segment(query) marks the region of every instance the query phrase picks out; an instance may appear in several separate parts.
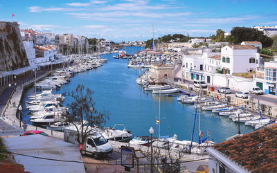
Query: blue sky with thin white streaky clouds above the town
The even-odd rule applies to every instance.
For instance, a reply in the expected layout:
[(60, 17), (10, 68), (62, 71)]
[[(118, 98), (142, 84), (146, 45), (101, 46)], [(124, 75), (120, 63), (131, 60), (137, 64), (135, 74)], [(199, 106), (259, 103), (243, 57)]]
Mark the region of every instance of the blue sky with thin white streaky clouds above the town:
[[(276, 0), (0, 0), (0, 21), (51, 33), (116, 42), (181, 33), (193, 37), (235, 26), (276, 26)], [(13, 19), (11, 14), (15, 14)]]

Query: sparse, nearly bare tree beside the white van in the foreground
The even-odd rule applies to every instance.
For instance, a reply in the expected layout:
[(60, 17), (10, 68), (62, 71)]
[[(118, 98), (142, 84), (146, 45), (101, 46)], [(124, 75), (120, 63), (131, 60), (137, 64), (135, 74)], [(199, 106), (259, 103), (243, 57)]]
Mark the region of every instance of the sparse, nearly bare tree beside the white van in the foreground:
[[(93, 130), (90, 127), (102, 127), (109, 119), (109, 112), (98, 112), (95, 109), (96, 103), (93, 102), (93, 91), (84, 89), (82, 84), (78, 84), (75, 91), (63, 93), (66, 97), (71, 98), (71, 102), (67, 104), (72, 111), (66, 116), (77, 129), (77, 141), (79, 144), (84, 144), (84, 140), (89, 136), (89, 132)], [(87, 122), (84, 123), (84, 120)]]

